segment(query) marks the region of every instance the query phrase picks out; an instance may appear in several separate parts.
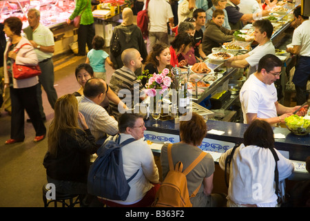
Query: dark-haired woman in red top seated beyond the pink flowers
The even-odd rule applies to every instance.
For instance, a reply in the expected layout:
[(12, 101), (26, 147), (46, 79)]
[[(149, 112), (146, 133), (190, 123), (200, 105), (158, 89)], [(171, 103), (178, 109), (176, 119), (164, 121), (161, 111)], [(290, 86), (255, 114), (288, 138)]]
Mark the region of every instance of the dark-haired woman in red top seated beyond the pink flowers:
[(169, 48), (171, 54), (170, 64), (173, 67), (187, 66), (187, 60), (184, 59), (179, 62), (178, 55), (180, 53), (186, 54), (192, 46), (194, 46), (194, 37), (192, 35), (189, 35), (187, 32), (176, 35)]

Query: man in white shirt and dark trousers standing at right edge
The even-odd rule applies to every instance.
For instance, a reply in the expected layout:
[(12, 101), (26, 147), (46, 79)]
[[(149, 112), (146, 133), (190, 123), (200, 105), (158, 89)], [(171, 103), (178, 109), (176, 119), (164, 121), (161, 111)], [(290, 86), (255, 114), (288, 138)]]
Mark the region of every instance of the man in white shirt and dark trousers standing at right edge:
[(307, 101), (307, 81), (310, 80), (310, 21), (309, 17), (301, 15), (300, 6), (294, 12), (296, 23), (300, 26), (293, 32), (293, 48), (287, 48), (287, 52), (300, 55), (296, 70), (293, 76), (293, 83), (296, 88), (296, 103), (302, 105)]

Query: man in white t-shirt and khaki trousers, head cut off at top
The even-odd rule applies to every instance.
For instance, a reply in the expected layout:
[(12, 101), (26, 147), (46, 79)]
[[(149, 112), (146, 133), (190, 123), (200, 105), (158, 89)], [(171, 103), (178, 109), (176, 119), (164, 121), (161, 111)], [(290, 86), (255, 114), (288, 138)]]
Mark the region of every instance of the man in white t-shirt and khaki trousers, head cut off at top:
[(149, 37), (147, 38), (147, 53), (153, 50), (156, 41), (169, 45), (167, 22), (174, 27), (174, 14), (170, 4), (165, 0), (150, 0), (147, 6), (149, 15)]

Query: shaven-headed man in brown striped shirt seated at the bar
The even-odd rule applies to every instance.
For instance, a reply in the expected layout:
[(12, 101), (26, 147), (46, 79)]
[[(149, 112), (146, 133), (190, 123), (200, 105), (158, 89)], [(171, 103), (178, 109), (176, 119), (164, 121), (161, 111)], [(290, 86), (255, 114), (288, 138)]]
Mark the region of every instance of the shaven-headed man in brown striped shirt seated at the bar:
[[(135, 104), (144, 99), (144, 96), (141, 95), (143, 85), (141, 80), (137, 79), (134, 74), (136, 69), (142, 67), (143, 58), (135, 48), (127, 48), (122, 52), (121, 59), (124, 66), (115, 70), (109, 86), (127, 107), (133, 108)], [(118, 115), (120, 115), (118, 105), (110, 102), (109, 108), (111, 115), (118, 118)]]

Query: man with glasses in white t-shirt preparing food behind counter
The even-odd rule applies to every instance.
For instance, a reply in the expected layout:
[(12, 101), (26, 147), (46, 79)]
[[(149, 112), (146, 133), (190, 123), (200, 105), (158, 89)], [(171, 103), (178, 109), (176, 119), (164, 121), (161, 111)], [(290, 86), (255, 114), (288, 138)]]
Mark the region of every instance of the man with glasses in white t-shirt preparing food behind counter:
[[(300, 106), (286, 107), (278, 103), (276, 86), (273, 82), (280, 79), (282, 61), (276, 55), (265, 55), (258, 62), (258, 70), (245, 81), (240, 90), (240, 102), (245, 124), (254, 119), (265, 120), (271, 125), (285, 123)], [(298, 111), (297, 115), (305, 115)]]

